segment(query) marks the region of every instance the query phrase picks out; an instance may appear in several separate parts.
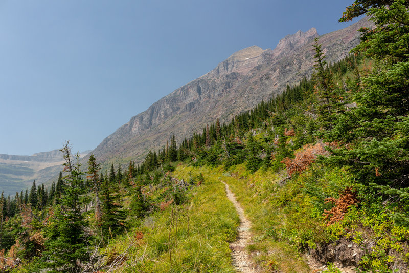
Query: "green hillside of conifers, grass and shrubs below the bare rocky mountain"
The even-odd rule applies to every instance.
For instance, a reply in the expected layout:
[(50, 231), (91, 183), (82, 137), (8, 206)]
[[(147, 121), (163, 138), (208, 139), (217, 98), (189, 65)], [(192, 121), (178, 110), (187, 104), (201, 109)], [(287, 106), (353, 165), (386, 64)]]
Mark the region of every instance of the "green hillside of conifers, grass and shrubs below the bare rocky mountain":
[(310, 78), (141, 164), (104, 173), (90, 155), (82, 173), (66, 143), (50, 189), (2, 196), (3, 271), (234, 272), (224, 182), (252, 222), (251, 272), (407, 272), (408, 8), (356, 0), (340, 20), (375, 27), (344, 60), (316, 38)]

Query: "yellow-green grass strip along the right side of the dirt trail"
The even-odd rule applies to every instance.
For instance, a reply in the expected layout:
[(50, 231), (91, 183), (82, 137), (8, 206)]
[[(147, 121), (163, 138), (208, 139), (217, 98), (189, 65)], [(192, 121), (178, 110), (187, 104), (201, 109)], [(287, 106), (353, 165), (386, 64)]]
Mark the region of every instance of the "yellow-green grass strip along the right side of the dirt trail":
[[(247, 251), (264, 272), (271, 272), (273, 269), (282, 272), (310, 272), (308, 265), (299, 257), (297, 247), (280, 240), (279, 230), (283, 229), (288, 217), (293, 217), (277, 206), (275, 200), (277, 197), (274, 193), (277, 194), (282, 188), (277, 183), (281, 179), (280, 174), (261, 170), (251, 174), (244, 164), (234, 166), (228, 171), (222, 167), (184, 169), (193, 175), (202, 173), (207, 180), (222, 180), (229, 184), (252, 222), (254, 242), (247, 247)], [(315, 223), (311, 223), (313, 224)], [(274, 230), (278, 232), (274, 233)]]

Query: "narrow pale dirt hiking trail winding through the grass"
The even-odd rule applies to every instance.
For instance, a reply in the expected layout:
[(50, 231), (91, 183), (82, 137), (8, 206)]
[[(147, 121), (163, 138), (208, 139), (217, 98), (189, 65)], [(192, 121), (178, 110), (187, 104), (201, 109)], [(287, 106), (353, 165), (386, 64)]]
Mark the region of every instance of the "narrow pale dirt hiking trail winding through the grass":
[(226, 195), (235, 206), (240, 218), (239, 235), (237, 240), (230, 244), (230, 248), (232, 249), (233, 265), (236, 267), (238, 272), (256, 273), (258, 271), (253, 266), (253, 263), (248, 255), (248, 251), (246, 250), (246, 246), (251, 240), (250, 227), (252, 223), (245, 217), (243, 208), (237, 202), (232, 191), (230, 191), (229, 185), (221, 180), (220, 182), (225, 185)]

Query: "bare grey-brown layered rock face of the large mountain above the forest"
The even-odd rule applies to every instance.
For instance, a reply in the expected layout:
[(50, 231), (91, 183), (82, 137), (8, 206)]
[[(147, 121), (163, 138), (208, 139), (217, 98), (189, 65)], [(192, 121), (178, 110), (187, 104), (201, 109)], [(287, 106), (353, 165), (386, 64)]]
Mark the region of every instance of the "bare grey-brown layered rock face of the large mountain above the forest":
[[(343, 59), (359, 43), (367, 18), (320, 36), (328, 61)], [(280, 40), (274, 50), (252, 46), (220, 62), (209, 73), (187, 83), (153, 103), (105, 138), (93, 151), (99, 161), (141, 161), (149, 150), (163, 148), (172, 134), (179, 142), (199, 132), (206, 123), (231, 120), (261, 100), (282, 93), (286, 85), (309, 77), (314, 63), (315, 28)]]

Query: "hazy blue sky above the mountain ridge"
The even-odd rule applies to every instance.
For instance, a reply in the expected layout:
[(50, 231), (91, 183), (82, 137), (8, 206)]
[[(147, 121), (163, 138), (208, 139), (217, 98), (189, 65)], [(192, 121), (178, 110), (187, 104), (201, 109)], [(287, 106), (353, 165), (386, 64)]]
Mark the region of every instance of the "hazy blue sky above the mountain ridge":
[(235, 51), (347, 27), (352, 2), (0, 0), (0, 154), (94, 149)]

